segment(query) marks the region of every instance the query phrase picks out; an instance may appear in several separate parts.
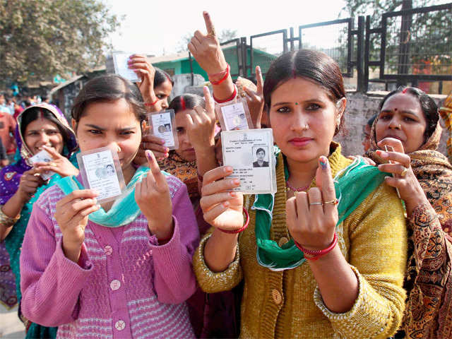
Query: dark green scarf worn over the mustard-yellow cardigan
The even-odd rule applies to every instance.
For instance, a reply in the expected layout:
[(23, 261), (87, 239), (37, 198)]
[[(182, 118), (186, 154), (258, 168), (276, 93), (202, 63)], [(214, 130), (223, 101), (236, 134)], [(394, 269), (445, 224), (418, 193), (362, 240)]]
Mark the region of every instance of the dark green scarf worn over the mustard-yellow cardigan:
[[(280, 150), (275, 153), (277, 161), (284, 161)], [(289, 177), (287, 166), (284, 167), (285, 179)], [(367, 165), (361, 157), (355, 158), (345, 169), (334, 177), (334, 188), (338, 198), (339, 220), (336, 227), (345, 220), (384, 180), (386, 173), (377, 167)], [(278, 246), (270, 239), (270, 227), (273, 218), (274, 194), (258, 194), (251, 209), (256, 210), (256, 244), (259, 265), (270, 270), (287, 270), (300, 266), (306, 259), (303, 252), (290, 239), (287, 244)]]

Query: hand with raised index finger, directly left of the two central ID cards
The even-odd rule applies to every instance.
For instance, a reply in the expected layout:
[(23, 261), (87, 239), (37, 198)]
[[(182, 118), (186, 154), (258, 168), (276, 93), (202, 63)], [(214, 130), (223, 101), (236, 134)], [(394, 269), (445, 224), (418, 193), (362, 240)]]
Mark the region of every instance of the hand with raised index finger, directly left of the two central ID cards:
[(206, 109), (200, 106), (191, 109), (187, 126), (190, 143), (197, 153), (210, 150), (215, 145), (215, 103), (209, 88), (204, 86), (203, 90)]

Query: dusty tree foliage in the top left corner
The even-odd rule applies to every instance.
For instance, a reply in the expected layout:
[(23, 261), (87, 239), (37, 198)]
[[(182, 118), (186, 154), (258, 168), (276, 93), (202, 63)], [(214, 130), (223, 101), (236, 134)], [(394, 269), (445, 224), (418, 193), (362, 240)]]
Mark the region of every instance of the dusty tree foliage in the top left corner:
[(119, 26), (100, 0), (0, 0), (0, 81), (49, 79), (105, 63)]

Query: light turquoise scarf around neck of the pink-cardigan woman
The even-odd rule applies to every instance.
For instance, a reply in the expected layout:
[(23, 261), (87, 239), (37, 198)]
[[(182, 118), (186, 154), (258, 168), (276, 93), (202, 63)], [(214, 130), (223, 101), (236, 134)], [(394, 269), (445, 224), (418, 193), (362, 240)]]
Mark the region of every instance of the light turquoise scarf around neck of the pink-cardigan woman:
[[(141, 182), (141, 179), (148, 171), (149, 167), (139, 167), (135, 174), (133, 174), (129, 184), (127, 184), (124, 193), (114, 201), (112, 208), (110, 208), (108, 212), (105, 212), (103, 208), (100, 208), (91, 213), (88, 219), (98, 225), (112, 228), (127, 225), (135, 220), (141, 213), (141, 210), (135, 201), (135, 185), (137, 182)], [(163, 171), (162, 173), (169, 175)], [(84, 189), (83, 185), (73, 176), (60, 179), (59, 182), (57, 182), (57, 185), (66, 195), (77, 189)]]

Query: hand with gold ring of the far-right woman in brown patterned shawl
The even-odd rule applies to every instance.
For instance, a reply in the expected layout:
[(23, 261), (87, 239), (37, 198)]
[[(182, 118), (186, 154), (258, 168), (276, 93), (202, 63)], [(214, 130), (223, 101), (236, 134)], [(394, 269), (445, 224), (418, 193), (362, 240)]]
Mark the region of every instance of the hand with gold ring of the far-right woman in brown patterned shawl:
[[(412, 210), (422, 203), (429, 203), (424, 194), (422, 186), (417, 181), (415, 173), (412, 172), (410, 155), (405, 154), (403, 144), (396, 138), (384, 138), (377, 143), (379, 150), (376, 154), (388, 163), (379, 165), (381, 172), (393, 174), (385, 178), (386, 184), (398, 189), (400, 198), (405, 201), (408, 216)], [(391, 151), (386, 151), (385, 146)]]

